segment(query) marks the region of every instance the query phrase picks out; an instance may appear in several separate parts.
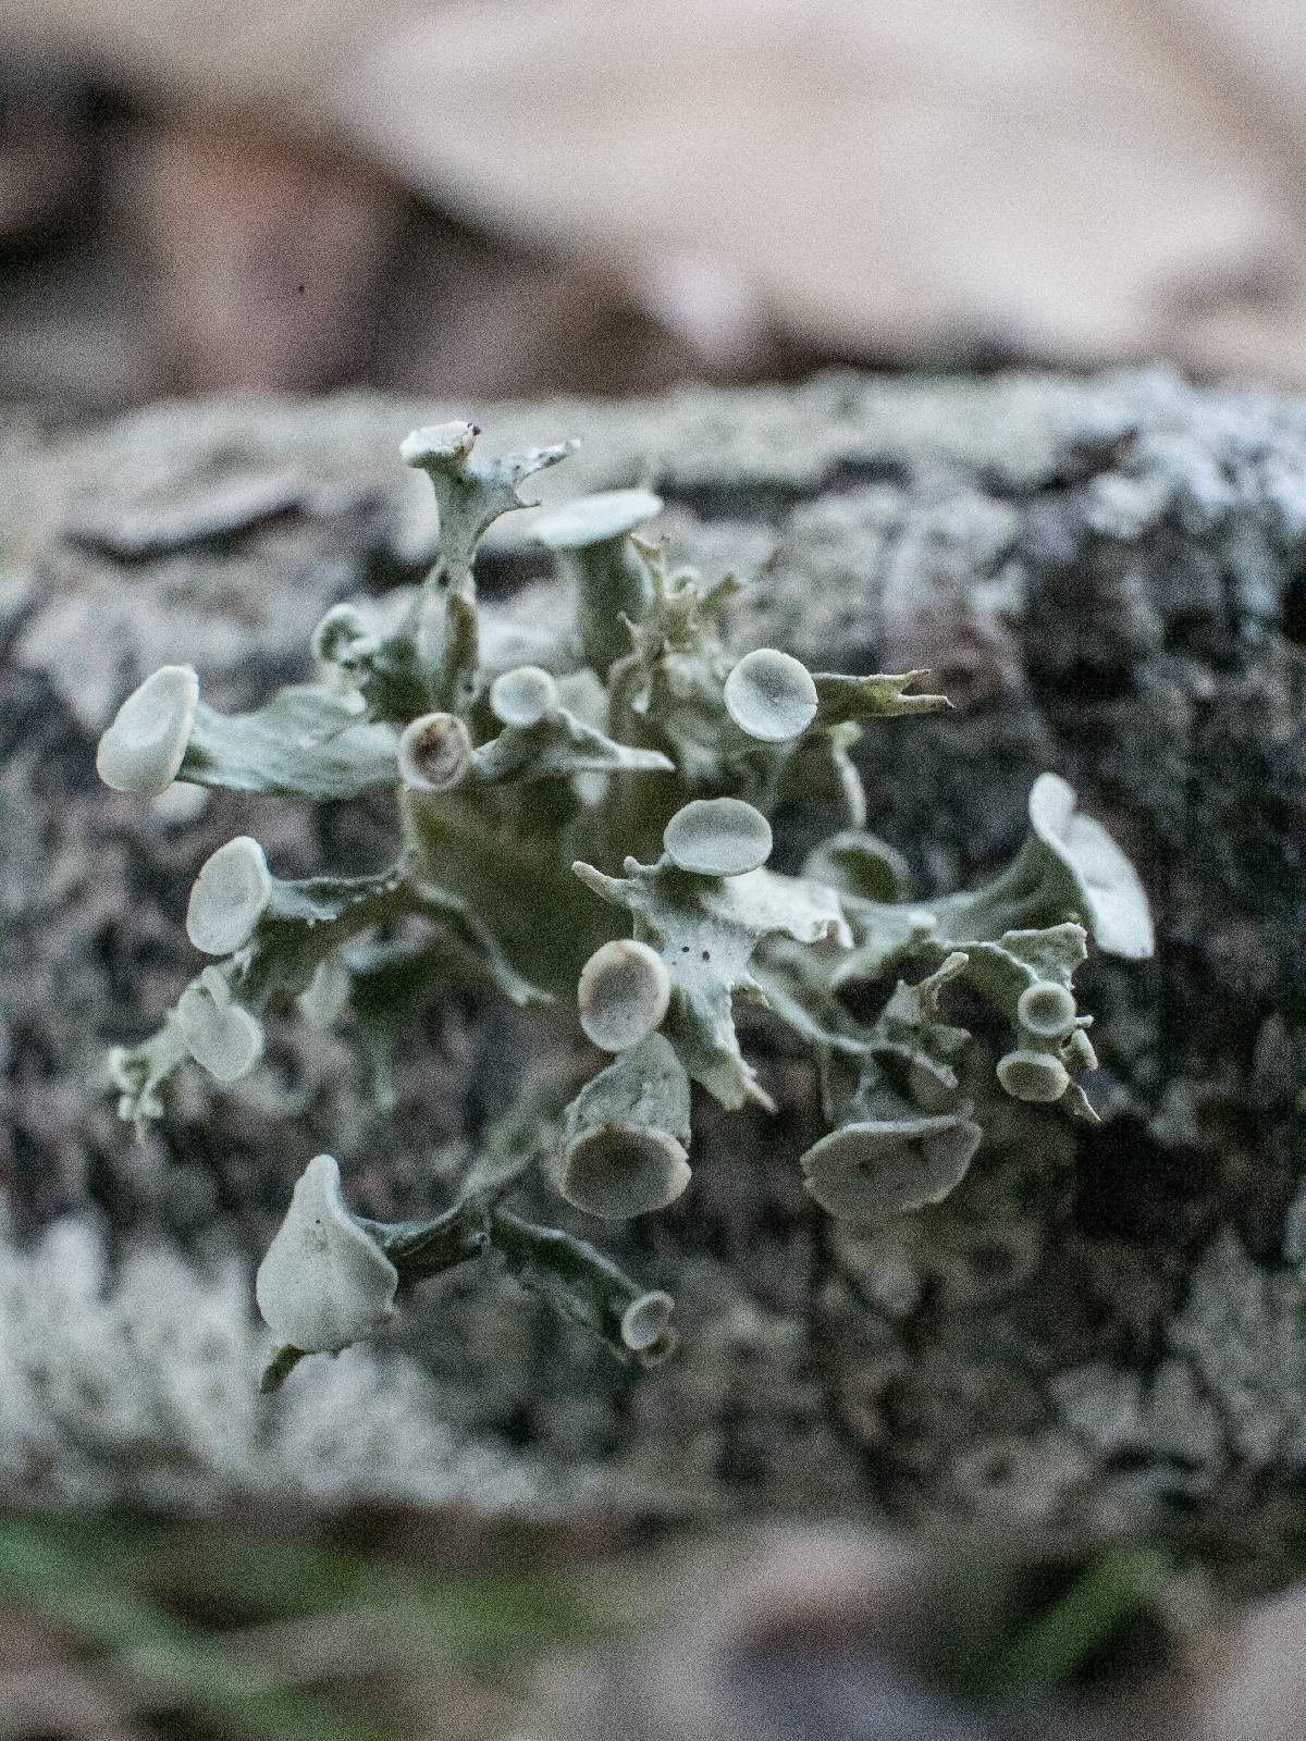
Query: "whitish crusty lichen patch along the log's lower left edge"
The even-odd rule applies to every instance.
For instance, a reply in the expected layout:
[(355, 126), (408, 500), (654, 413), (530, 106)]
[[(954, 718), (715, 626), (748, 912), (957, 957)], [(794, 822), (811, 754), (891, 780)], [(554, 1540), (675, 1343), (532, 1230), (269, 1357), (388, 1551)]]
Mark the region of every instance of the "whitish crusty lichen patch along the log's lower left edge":
[[(451, 1424), (456, 1393), (394, 1351), (352, 1348), (259, 1396), (268, 1334), (251, 1280), (233, 1255), (197, 1264), (158, 1243), (110, 1260), (103, 1229), (73, 1217), (19, 1245), (0, 1196), (5, 1501), (514, 1515), (545, 1499), (531, 1459)], [(573, 1476), (583, 1487), (583, 1471)], [(566, 1478), (549, 1475), (550, 1504)]]

